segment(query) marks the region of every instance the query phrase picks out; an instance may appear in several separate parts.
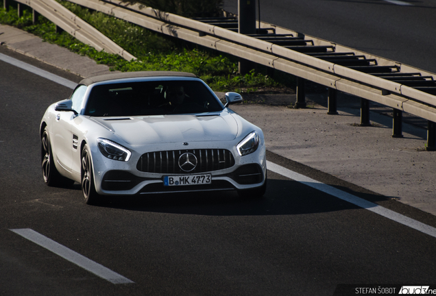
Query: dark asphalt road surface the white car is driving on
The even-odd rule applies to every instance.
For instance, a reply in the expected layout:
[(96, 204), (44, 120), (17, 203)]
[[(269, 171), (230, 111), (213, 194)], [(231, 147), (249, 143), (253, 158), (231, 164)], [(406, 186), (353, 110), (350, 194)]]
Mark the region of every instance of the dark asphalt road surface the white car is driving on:
[[(332, 295), (338, 284), (436, 284), (435, 237), (271, 171), (261, 200), (215, 193), (86, 206), (77, 184), (45, 186), (38, 125), (71, 90), (5, 62), (0, 69), (0, 295)], [(273, 153), (268, 160), (436, 226), (409, 206)], [(112, 284), (16, 229), (134, 283)]]

